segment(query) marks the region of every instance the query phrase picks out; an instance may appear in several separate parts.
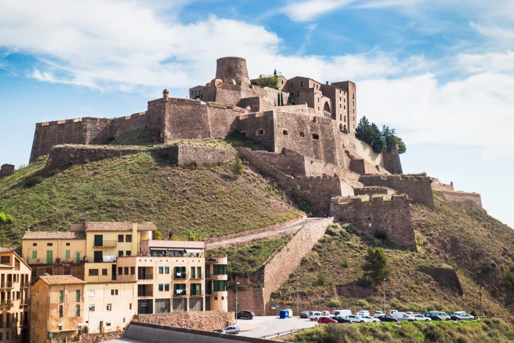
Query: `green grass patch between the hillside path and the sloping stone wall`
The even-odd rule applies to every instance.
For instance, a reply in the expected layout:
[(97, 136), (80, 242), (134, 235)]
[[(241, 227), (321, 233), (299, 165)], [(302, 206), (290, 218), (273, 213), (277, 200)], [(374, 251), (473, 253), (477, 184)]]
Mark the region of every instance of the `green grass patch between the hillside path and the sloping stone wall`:
[(255, 242), (243, 247), (226, 247), (209, 250), (209, 254), (228, 256), (228, 275), (247, 277), (263, 265), (278, 249), (289, 241), (290, 236)]

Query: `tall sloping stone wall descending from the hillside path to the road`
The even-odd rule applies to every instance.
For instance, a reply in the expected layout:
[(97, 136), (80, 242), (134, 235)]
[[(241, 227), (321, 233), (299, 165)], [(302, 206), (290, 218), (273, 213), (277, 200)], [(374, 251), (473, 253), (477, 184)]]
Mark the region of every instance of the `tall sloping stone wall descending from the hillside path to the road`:
[[(300, 266), (303, 257), (323, 237), (327, 226), (332, 222), (333, 218), (324, 218), (305, 224), (250, 277), (235, 278), (234, 283), (240, 282), (242, 285), (238, 288), (238, 309), (253, 311), (258, 316), (265, 315), (271, 293), (289, 279), (289, 275)], [(228, 309), (235, 311), (234, 288), (228, 292)]]

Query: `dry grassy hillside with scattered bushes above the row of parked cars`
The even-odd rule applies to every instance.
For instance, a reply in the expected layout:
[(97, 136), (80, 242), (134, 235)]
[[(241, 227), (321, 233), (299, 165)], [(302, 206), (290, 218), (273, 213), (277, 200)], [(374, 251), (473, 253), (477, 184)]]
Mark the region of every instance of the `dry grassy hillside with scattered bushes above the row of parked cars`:
[[(514, 246), (510, 243), (514, 236), (512, 230), (498, 225), (497, 221), (483, 211), (468, 210), (442, 200), (437, 200), (436, 209), (433, 211), (420, 205), (414, 205), (413, 211), (416, 226), (424, 225), (424, 230), (420, 229), (421, 232), (417, 233), (418, 253), (358, 234), (349, 225), (333, 226), (327, 229), (325, 237), (305, 256), (302, 265), (271, 298), (278, 302), (296, 304), (296, 279), (300, 276), (300, 297), (304, 305), (319, 309), (325, 306), (383, 309), (383, 287), (365, 287), (359, 283), (363, 276), (361, 265), (364, 263), (366, 249), (369, 246), (380, 246), (391, 266), (391, 275), (386, 282), (388, 310), (453, 312), (462, 309), (468, 313), (478, 313), (479, 286), (474, 280), (481, 280), (481, 276), (476, 274), (475, 264), (465, 262), (463, 257), (472, 256), (479, 245), (482, 248), (478, 251), (483, 252), (485, 259), (494, 256), (497, 251), (511, 250)], [(440, 231), (443, 228), (439, 229), (435, 224), (436, 219), (445, 223), (444, 232)], [(471, 227), (472, 223), (474, 227)], [(490, 227), (485, 227), (489, 224)], [(434, 228), (434, 233), (431, 227)], [(438, 236), (430, 236), (436, 233)], [(452, 235), (455, 237), (451, 238)], [(435, 246), (443, 244), (446, 239), (452, 242), (452, 248), (448, 250), (448, 255), (442, 255), (441, 250)], [(458, 260), (461, 262), (457, 262)], [(457, 275), (463, 288), (462, 296), (455, 290), (438, 284), (427, 271), (429, 267), (445, 263), (457, 267)], [(502, 258), (502, 263), (512, 266), (508, 258)], [(500, 305), (501, 299), (495, 299), (494, 292), (491, 295), (488, 291), (489, 288), (486, 288), (482, 297), (484, 313), (511, 321), (512, 317)]]

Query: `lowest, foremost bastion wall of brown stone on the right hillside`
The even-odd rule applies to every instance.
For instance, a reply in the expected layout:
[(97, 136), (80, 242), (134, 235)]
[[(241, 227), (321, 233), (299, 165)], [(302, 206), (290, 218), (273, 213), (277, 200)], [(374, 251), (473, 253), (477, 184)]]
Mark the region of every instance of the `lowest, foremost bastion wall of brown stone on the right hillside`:
[[(411, 209), (407, 196), (393, 196), (391, 200), (368, 195), (354, 198), (333, 198), (330, 215), (339, 223), (351, 223), (368, 236), (385, 233), (387, 240), (417, 250)], [(371, 225), (370, 225), (371, 223)]]

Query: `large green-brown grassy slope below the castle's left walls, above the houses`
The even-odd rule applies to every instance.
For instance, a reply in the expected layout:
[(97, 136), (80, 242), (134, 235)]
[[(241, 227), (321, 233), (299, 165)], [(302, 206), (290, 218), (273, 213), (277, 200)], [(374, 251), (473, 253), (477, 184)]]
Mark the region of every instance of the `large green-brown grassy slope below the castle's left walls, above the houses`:
[[(223, 141), (216, 145), (227, 146)], [(74, 166), (28, 187), (44, 164), (41, 158), (0, 179), (0, 211), (14, 218), (0, 228), (2, 245), (20, 244), (28, 226), (56, 230), (69, 222), (152, 221), (164, 237), (170, 230), (177, 238), (192, 230), (201, 239), (302, 214), (269, 180), (249, 171), (235, 177), (231, 164), (179, 168), (142, 151)]]

